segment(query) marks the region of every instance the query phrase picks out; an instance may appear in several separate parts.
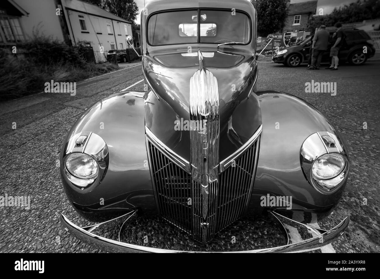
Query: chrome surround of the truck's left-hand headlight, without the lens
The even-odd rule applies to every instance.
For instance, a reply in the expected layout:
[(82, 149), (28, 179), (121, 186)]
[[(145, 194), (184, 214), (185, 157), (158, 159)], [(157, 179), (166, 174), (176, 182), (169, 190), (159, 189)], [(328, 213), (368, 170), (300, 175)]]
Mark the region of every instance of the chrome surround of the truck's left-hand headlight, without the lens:
[[(88, 178), (73, 175), (66, 166), (70, 154), (86, 154), (97, 163), (97, 172)], [(63, 178), (78, 192), (89, 192), (98, 186), (106, 175), (109, 164), (109, 153), (106, 142), (93, 132), (83, 131), (72, 136), (65, 145), (62, 156)]]

